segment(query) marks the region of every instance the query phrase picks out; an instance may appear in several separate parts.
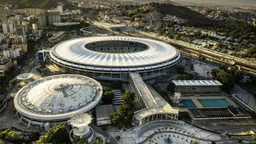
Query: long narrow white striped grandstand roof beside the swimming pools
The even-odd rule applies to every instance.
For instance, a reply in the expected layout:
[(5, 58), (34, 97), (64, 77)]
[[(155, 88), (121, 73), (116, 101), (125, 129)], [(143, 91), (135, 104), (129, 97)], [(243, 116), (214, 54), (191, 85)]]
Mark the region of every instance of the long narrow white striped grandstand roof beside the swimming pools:
[(217, 80), (174, 80), (175, 86), (222, 86)]

